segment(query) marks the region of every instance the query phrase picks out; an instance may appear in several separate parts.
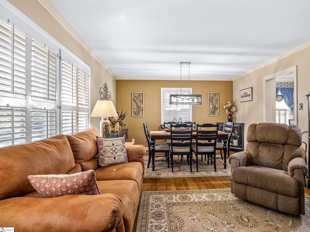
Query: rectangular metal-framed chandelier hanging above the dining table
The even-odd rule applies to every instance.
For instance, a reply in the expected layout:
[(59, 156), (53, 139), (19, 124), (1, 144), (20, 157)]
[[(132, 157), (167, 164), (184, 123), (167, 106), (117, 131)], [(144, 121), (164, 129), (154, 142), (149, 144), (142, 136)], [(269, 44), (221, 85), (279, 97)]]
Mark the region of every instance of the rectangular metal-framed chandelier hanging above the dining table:
[[(182, 64), (188, 64), (188, 94), (182, 93)], [(180, 94), (171, 94), (170, 95), (170, 104), (191, 104), (198, 105), (202, 103), (202, 95), (198, 94), (190, 94), (189, 88), (189, 65), (190, 62), (180, 62), (180, 85), (181, 85), (181, 93)]]

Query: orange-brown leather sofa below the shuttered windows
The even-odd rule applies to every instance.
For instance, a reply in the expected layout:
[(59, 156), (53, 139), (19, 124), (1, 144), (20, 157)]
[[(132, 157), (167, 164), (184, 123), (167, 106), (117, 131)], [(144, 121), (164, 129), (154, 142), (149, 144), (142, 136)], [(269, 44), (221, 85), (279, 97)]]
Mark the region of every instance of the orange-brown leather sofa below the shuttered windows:
[[(36, 232), (131, 232), (138, 210), (144, 145), (126, 146), (127, 163), (98, 167), (95, 128), (0, 148), (0, 226)], [(95, 170), (101, 195), (43, 198), (28, 175)]]

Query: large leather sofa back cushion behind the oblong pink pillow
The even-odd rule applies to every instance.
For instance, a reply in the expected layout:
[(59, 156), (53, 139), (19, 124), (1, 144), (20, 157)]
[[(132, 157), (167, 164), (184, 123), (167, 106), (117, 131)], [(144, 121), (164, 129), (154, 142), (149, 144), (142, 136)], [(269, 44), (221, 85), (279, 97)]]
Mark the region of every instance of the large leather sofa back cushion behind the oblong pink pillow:
[(1, 147), (0, 160), (0, 199), (33, 191), (28, 175), (65, 174), (76, 165), (68, 139), (63, 135)]

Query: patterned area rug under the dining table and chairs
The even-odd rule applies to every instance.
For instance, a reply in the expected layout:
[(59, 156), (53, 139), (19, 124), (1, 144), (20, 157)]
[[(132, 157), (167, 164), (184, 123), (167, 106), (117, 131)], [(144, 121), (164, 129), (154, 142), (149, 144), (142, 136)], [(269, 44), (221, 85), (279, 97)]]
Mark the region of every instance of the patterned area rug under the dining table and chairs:
[[(220, 155), (218, 155), (220, 157)], [(224, 169), (224, 160), (217, 159), (217, 172), (214, 172), (214, 165), (207, 161), (201, 160), (198, 161), (198, 173), (196, 172), (196, 163), (192, 164), (192, 171), (190, 172), (189, 165), (187, 165), (186, 158), (181, 162), (180, 157), (173, 157), (173, 173), (171, 172), (171, 165), (168, 168), (167, 162), (163, 157), (155, 158), (155, 171), (152, 171), (152, 162), (150, 163), (149, 168), (145, 168), (144, 178), (156, 178), (156, 177), (187, 177), (187, 176), (220, 176), (220, 175), (230, 175), (231, 174), (231, 165), (229, 164), (228, 159), (226, 159), (227, 166)], [(147, 167), (148, 156), (144, 157), (145, 167)]]

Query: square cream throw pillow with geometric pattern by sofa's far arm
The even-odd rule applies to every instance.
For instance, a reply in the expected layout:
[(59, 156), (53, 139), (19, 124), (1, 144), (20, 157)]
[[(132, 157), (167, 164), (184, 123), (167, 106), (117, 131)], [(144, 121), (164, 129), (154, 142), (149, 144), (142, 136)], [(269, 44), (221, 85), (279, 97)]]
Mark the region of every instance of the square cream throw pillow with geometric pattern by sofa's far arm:
[(125, 138), (99, 138), (97, 137), (99, 165), (109, 166), (128, 162)]

